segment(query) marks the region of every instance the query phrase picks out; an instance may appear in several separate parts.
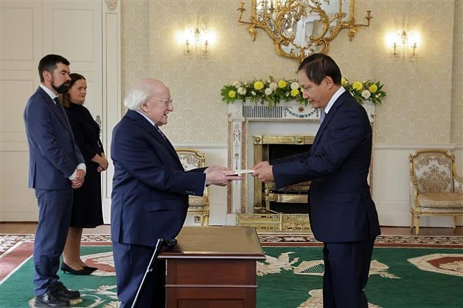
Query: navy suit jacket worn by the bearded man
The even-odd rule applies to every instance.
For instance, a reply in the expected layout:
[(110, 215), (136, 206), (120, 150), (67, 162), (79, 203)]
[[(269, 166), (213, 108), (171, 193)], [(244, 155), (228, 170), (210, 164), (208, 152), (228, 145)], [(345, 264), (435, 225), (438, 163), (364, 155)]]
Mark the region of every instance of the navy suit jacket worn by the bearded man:
[(29, 188), (70, 188), (72, 175), (84, 157), (74, 142), (68, 120), (38, 87), (24, 109), (29, 143)]

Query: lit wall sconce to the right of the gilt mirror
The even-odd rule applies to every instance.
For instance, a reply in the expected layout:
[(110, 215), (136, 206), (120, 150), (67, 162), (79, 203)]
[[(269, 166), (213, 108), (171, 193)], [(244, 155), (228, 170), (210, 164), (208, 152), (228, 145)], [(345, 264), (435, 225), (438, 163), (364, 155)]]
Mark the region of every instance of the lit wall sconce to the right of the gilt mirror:
[(418, 46), (421, 44), (421, 37), (418, 33), (405, 30), (395, 31), (386, 35), (386, 44), (391, 50), (391, 58), (408, 57), (415, 61), (418, 57)]

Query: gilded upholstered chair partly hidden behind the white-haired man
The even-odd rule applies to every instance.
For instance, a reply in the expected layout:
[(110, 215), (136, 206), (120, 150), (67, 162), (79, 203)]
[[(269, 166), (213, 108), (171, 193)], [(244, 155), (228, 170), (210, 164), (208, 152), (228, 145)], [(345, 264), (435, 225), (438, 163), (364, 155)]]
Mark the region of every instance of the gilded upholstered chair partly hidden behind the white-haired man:
[[(190, 149), (187, 147), (177, 147), (175, 152), (187, 170), (205, 167), (205, 155), (198, 152), (197, 149)], [(189, 208), (188, 213), (194, 216), (200, 216), (201, 226), (209, 226), (209, 190), (206, 187), (203, 196), (189, 195), (188, 197)]]

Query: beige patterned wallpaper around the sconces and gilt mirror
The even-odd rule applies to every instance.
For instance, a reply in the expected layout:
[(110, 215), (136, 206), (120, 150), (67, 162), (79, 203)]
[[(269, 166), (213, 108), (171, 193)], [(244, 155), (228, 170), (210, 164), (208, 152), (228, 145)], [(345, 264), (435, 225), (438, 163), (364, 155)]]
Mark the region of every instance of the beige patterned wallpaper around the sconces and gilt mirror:
[[(174, 142), (226, 143), (223, 84), (296, 76), (297, 63), (277, 56), (267, 33), (258, 29), (256, 41), (251, 40), (246, 26), (237, 22), (238, 2), (121, 2), (123, 95), (144, 76), (166, 81), (175, 111), (163, 130)], [(357, 0), (355, 10), (358, 22), (372, 10), (370, 28), (360, 28), (352, 41), (341, 31), (331, 42), (329, 55), (344, 76), (384, 83), (388, 96), (376, 109), (376, 143), (461, 144), (462, 0)], [(203, 22), (217, 33), (212, 58), (187, 59), (175, 37), (187, 26)], [(418, 61), (389, 57), (384, 38), (398, 28), (421, 33)]]

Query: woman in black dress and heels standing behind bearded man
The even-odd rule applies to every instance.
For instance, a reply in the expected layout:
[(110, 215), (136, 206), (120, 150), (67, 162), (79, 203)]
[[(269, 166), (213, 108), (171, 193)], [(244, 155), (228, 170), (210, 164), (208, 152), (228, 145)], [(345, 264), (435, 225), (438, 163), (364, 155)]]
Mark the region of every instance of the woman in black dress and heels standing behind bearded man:
[(97, 268), (87, 266), (80, 257), (83, 228), (103, 225), (101, 172), (107, 170), (108, 161), (100, 140), (100, 126), (83, 106), (87, 94), (87, 82), (81, 74), (70, 74), (68, 93), (61, 95), (71, 124), (74, 140), (86, 164), (86, 175), (81, 188), (74, 190), (72, 217), (61, 270), (74, 275), (89, 275)]

